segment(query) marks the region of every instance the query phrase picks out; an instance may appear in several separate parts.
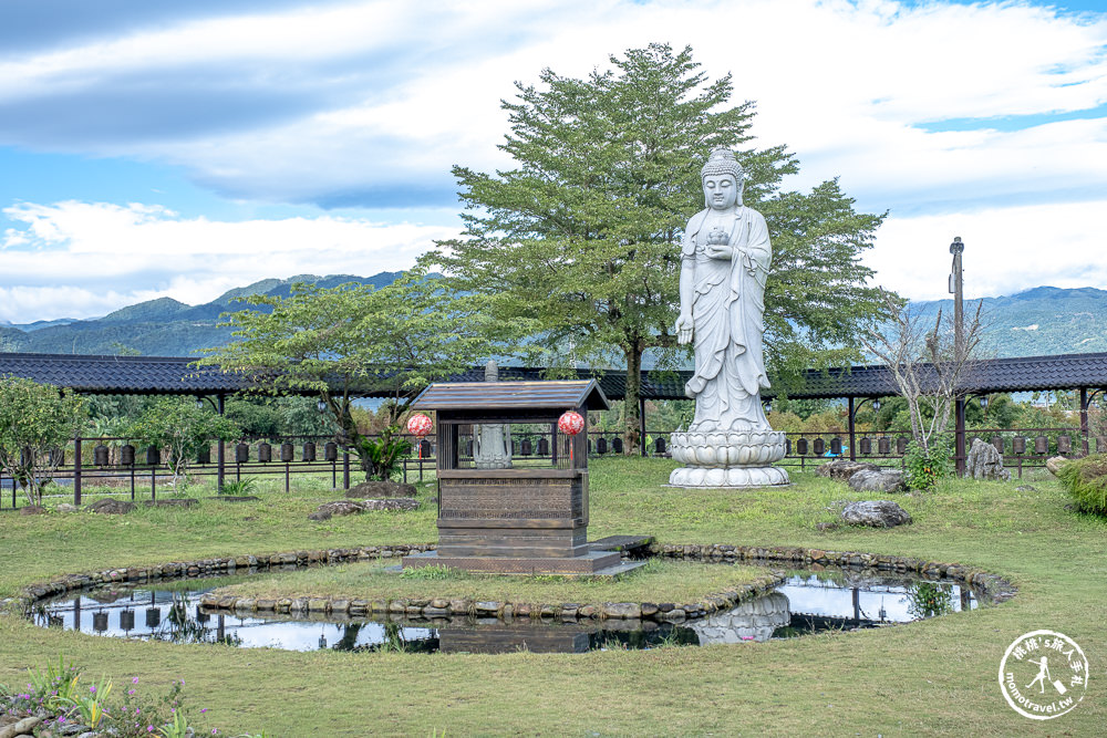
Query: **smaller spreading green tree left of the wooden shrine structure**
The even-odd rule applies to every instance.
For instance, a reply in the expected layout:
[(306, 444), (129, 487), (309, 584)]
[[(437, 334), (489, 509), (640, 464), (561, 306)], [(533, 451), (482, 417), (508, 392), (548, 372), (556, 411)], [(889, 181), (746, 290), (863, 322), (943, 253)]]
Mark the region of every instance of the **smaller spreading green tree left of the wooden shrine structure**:
[[(420, 270), (380, 289), (297, 283), (287, 298), (251, 295), (245, 302), (255, 309), (227, 313), (238, 341), (199, 363), (246, 374), (271, 394), (318, 392), (366, 478), (387, 479), (408, 449), (397, 436), (416, 394), (532, 330), (528, 321), (497, 322), (497, 300), (458, 294)], [(387, 396), (377, 435), (363, 433), (351, 412), (364, 394)]]

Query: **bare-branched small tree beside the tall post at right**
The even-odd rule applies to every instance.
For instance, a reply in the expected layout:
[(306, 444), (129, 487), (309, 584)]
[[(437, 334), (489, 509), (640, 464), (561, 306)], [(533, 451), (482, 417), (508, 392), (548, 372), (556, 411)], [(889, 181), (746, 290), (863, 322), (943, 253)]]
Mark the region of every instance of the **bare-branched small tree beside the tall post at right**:
[[(896, 386), (907, 399), (911, 436), (929, 453), (933, 439), (949, 427), (954, 403), (979, 368), (984, 302), (976, 303), (973, 319), (958, 341), (958, 326), (941, 310), (933, 329), (923, 332), (918, 314), (912, 314), (897, 295), (881, 292), (886, 322), (870, 328), (861, 336), (861, 344), (891, 371)], [(929, 419), (924, 409), (933, 410)]]

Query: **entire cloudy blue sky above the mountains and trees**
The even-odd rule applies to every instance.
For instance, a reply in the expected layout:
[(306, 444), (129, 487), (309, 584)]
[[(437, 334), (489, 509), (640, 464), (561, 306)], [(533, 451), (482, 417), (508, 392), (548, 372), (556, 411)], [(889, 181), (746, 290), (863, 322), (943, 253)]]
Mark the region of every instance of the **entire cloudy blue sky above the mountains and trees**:
[(970, 294), (1107, 289), (1103, 1), (6, 0), (0, 321), (406, 268), (515, 81), (654, 41), (734, 74), (788, 187), (889, 212), (879, 283), (943, 297), (961, 236)]

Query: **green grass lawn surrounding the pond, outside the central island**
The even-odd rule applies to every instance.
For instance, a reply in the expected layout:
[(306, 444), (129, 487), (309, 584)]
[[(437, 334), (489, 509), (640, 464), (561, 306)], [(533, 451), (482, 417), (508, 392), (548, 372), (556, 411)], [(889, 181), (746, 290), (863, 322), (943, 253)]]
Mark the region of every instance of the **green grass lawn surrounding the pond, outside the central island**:
[[(662, 543), (804, 545), (959, 562), (1013, 581), (1011, 602), (906, 626), (764, 644), (582, 655), (291, 653), (127, 643), (0, 616), (0, 683), (60, 653), (91, 676), (187, 682), (198, 723), (221, 734), (386, 735), (1103, 735), (1107, 721), (1107, 521), (1065, 509), (1049, 477), (946, 481), (897, 496), (914, 523), (819, 532), (844, 485), (793, 472), (777, 490), (662, 488), (672, 464), (607, 458), (591, 466), (590, 537), (653, 534)], [(1034, 491), (1016, 491), (1020, 484)], [(329, 482), (329, 480), (328, 480)], [(0, 597), (50, 576), (215, 555), (435, 540), (434, 506), (314, 523), (338, 493), (318, 484), (260, 503), (125, 517), (0, 513)], [(433, 490), (420, 491), (428, 500)], [(872, 499), (869, 496), (869, 499)], [(353, 568), (350, 567), (349, 570)], [(630, 581), (630, 580), (628, 580)], [(439, 582), (425, 582), (434, 588)], [(503, 584), (501, 584), (503, 586)], [(1092, 664), (1072, 713), (1018, 716), (997, 684), (1000, 659), (1039, 628), (1075, 638)]]

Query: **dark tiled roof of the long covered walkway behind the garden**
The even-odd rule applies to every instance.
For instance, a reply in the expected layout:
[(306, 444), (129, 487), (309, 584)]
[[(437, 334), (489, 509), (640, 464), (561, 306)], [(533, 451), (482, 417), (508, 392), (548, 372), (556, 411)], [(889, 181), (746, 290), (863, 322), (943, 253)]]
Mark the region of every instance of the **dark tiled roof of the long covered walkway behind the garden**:
[[(0, 376), (23, 376), (46, 384), (71, 387), (85, 394), (214, 394), (248, 389), (250, 380), (216, 367), (196, 368), (195, 361), (177, 356), (83, 356), (77, 354), (0, 353)], [(577, 370), (579, 380), (596, 380), (610, 399), (627, 394), (627, 375), (618, 370)], [(542, 370), (501, 366), (503, 381), (534, 382)], [(643, 372), (642, 397), (683, 399), (691, 372)], [(451, 382), (482, 382), (484, 367), (474, 367)], [(983, 361), (966, 382), (970, 392), (1017, 392), (1107, 387), (1107, 354), (1066, 354)], [(763, 393), (776, 396), (780, 387)], [(311, 393), (308, 393), (311, 394)], [(366, 392), (366, 396), (374, 393)], [(801, 388), (788, 388), (790, 397), (868, 397), (897, 393), (891, 372), (884, 366), (853, 366), (807, 373)]]

